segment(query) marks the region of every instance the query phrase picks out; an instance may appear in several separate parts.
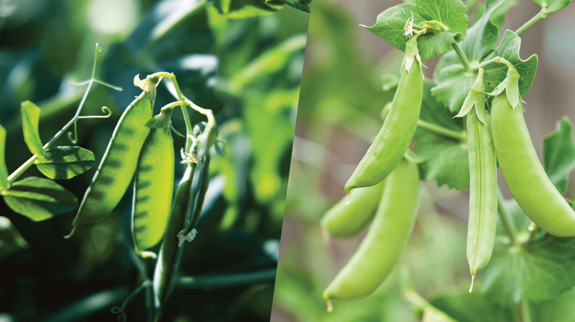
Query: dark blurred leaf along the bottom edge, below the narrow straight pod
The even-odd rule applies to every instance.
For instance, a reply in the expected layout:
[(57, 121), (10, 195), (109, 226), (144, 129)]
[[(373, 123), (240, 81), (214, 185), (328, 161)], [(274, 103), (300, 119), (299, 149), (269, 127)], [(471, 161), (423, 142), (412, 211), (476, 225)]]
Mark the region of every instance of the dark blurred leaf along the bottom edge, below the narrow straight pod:
[(513, 321), (509, 309), (493, 304), (488, 297), (479, 292), (438, 294), (430, 300), (430, 303), (458, 322)]

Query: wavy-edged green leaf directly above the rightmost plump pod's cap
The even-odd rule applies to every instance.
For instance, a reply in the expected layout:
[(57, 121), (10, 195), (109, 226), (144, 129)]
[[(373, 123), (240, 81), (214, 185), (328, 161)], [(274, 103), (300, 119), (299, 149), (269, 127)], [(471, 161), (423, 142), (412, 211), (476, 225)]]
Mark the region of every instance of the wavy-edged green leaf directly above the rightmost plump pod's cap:
[[(521, 47), (521, 38), (511, 30), (505, 30), (499, 45), (495, 49), (492, 56), (499, 56), (507, 59), (509, 63), (513, 64), (519, 72), (519, 96), (523, 96), (531, 87), (535, 79), (535, 72), (537, 71), (537, 55), (531, 55), (527, 60), (522, 60), (519, 57), (519, 49)], [(494, 64), (485, 70), (483, 80), (485, 82), (486, 90), (491, 86), (497, 86), (507, 76), (507, 67), (504, 64)], [(490, 82), (488, 85), (487, 82)], [(489, 90), (487, 90), (489, 91)]]

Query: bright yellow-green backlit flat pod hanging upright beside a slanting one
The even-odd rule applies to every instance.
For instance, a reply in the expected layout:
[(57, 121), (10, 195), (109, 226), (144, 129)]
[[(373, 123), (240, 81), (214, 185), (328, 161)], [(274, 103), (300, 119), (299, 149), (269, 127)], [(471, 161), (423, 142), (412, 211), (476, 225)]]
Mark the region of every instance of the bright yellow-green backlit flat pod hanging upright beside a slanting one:
[(166, 231), (174, 189), (174, 144), (170, 126), (152, 129), (136, 167), (132, 236), (136, 253), (155, 246)]

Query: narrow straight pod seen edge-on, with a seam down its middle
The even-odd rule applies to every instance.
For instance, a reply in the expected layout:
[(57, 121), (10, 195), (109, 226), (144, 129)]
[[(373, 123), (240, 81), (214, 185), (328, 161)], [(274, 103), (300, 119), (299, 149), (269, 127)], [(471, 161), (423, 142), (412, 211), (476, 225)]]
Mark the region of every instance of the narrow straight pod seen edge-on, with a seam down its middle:
[(497, 164), (489, 128), (477, 118), (475, 108), (467, 113), (469, 151), (469, 222), (467, 224), (467, 261), (471, 276), (487, 266), (493, 253), (497, 226)]

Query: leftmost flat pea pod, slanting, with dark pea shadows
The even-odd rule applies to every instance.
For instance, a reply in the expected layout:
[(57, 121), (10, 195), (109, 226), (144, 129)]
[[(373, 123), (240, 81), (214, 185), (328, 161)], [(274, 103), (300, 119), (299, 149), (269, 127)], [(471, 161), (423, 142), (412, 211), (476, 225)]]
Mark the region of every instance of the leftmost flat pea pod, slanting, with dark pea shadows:
[(120, 117), (72, 222), (74, 228), (79, 224), (104, 219), (124, 196), (136, 172), (141, 146), (150, 133), (150, 127), (146, 127), (145, 123), (152, 117), (154, 99), (155, 87), (154, 91), (142, 92)]

